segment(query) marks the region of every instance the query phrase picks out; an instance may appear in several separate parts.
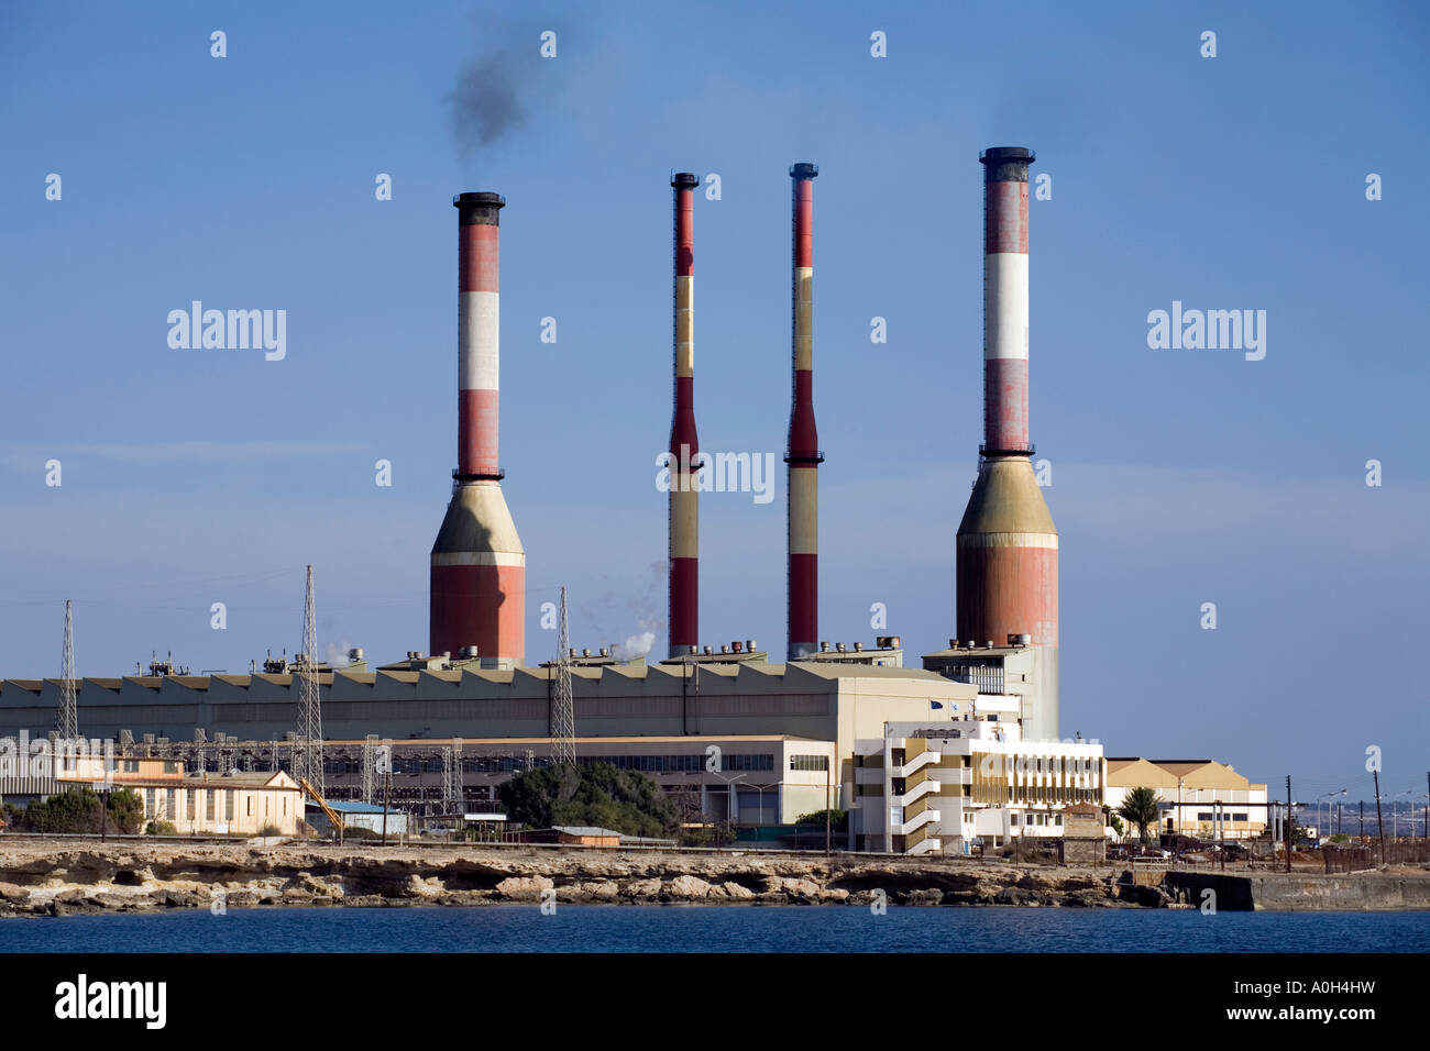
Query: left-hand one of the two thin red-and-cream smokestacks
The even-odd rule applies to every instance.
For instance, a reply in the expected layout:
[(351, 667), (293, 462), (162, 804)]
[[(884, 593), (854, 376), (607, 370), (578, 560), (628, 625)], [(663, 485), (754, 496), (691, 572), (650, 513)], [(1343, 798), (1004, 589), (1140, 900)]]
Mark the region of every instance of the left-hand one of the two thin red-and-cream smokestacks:
[(675, 189), (675, 410), (671, 416), (671, 656), (689, 653), (699, 632), (699, 493), (695, 490), (695, 187)]

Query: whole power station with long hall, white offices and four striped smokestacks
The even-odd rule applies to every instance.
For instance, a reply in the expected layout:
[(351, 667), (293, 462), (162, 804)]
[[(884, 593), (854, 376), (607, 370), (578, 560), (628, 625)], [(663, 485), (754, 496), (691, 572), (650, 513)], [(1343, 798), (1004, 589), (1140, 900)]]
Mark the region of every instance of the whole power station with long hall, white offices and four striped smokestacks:
[[(526, 665), (526, 552), (502, 492), (499, 456), (500, 212), (506, 199), (492, 192), (462, 193), (452, 202), (459, 235), (458, 463), (432, 546), (430, 651), (409, 651), (405, 659), (372, 669), (355, 651), (349, 666), (333, 669), (315, 662), (315, 646), (305, 641), (309, 655), (302, 661), (289, 665), (286, 658), (270, 658), (263, 671), (249, 675), (189, 675), (156, 661), (149, 675), (136, 669), (132, 676), (86, 678), (73, 689), (64, 685), (72, 682), (67, 678), (6, 679), (0, 682), (0, 735), (41, 736), (57, 725), (56, 711), (63, 711), (77, 714), (83, 734), (117, 741), (126, 756), (257, 778), (292, 766), (300, 754), (310, 755), (313, 742), (295, 728), (317, 725), (313, 716), (320, 709), (323, 764), (307, 769), (320, 772), (326, 795), (379, 814), (373, 749), (380, 745), (392, 749), (392, 784), (383, 788), (392, 804), (429, 815), (486, 812), (505, 778), (571, 761), (573, 748), (578, 764), (645, 771), (672, 795), (696, 799), (711, 819), (788, 824), (829, 804), (849, 809), (849, 847), (962, 852), (980, 838), (998, 845), (1018, 835), (1055, 835), (1067, 806), (1105, 802), (1110, 776), (1121, 785), (1117, 778), (1151, 778), (1154, 771), (1135, 764), (1113, 771), (1100, 745), (1057, 741), (1058, 533), (1034, 475), (1028, 428), (1028, 169), (1034, 154), (1024, 147), (994, 147), (978, 160), (984, 438), (978, 476), (957, 531), (957, 638), (948, 649), (925, 653), (922, 668), (904, 666), (898, 636), (879, 636), (869, 648), (819, 641), (818, 468), (824, 453), (814, 412), (814, 180), (819, 170), (802, 162), (789, 167), (784, 663), (771, 663), (752, 639), (718, 651), (698, 642), (699, 493), (691, 482), (701, 458), (694, 393), (699, 177), (674, 173), (665, 661), (623, 663), (606, 651), (578, 655), (563, 641), (555, 659)], [(1180, 778), (1190, 791), (1234, 791), (1218, 776), (1201, 768), (1163, 771), (1147, 784), (1165, 788), (1167, 778), (1173, 784)], [(33, 788), (31, 782), (26, 786)], [(1184, 816), (1174, 815), (1178, 829), (1195, 824), (1178, 819)]]

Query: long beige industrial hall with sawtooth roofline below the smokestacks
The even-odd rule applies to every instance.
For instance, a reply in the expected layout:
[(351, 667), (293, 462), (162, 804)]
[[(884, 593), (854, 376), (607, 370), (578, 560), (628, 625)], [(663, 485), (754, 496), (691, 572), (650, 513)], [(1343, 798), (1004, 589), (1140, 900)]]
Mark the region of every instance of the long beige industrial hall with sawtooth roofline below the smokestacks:
[[(977, 695), (918, 669), (702, 656), (572, 668), (578, 761), (645, 771), (712, 821), (792, 824), (839, 805), (855, 738), (889, 718), (954, 715)], [(393, 748), (392, 804), (420, 812), (490, 802), (500, 781), (552, 758), (552, 668), (329, 671), (319, 689), (337, 799), (376, 802), (370, 779), (363, 791), (368, 735)], [(43, 736), (59, 691), (54, 679), (0, 684), (0, 734)], [(293, 673), (126, 676), (80, 681), (77, 706), (87, 732), (122, 749), (263, 771), (290, 756), (299, 692)]]

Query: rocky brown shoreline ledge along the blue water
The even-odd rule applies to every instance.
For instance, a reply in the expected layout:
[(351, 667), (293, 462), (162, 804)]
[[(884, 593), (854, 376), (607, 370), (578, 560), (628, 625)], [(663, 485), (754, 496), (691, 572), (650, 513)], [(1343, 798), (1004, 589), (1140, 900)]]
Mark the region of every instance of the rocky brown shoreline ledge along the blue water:
[[(1364, 874), (1374, 878), (1383, 874)], [(1205, 887), (1233, 909), (1263, 908), (1248, 878), (1050, 868), (957, 858), (868, 858), (582, 848), (250, 847), (0, 841), (0, 918), (173, 908), (538, 904), (1022, 905), (1193, 908)], [(1369, 895), (1358, 877), (1273, 908), (1426, 908), (1430, 874)], [(1406, 889), (1406, 881), (1410, 889)], [(1228, 882), (1230, 881), (1230, 882)], [(1348, 882), (1347, 882), (1348, 881)], [(1354, 887), (1346, 901), (1343, 885)], [(1387, 884), (1389, 887), (1389, 884)], [(1301, 899), (1304, 898), (1304, 902)], [(1298, 904), (1301, 902), (1301, 904)], [(1358, 904), (1357, 904), (1358, 902)], [(1369, 904), (1381, 902), (1381, 904)]]

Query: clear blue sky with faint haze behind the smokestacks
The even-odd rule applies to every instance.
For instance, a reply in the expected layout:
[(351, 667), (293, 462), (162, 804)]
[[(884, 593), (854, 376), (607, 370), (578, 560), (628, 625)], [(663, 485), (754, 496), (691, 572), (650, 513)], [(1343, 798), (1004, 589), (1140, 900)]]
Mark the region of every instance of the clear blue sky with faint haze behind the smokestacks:
[[(669, 170), (722, 186), (695, 213), (702, 445), (778, 458), (795, 160), (821, 169), (821, 635), (871, 639), (884, 602), (914, 653), (944, 645), (981, 433), (977, 157), (1027, 144), (1052, 176), (1031, 433), (1061, 532), (1064, 732), (1351, 798), (1379, 745), (1386, 785), (1424, 791), (1404, 659), (1430, 632), (1423, 6), (420, 11), (0, 11), (0, 675), (59, 672), (64, 598), (82, 673), (153, 649), (245, 671), (296, 648), (309, 562), (320, 645), (426, 648), (455, 462), (449, 200), (469, 189), (508, 199), (528, 661), (555, 646), (538, 615), (561, 583), (578, 645), (659, 622), (664, 652)], [(449, 96), (493, 54), (523, 116), (463, 150)], [(287, 356), (170, 349), (193, 299), (287, 310)], [(1266, 359), (1148, 349), (1173, 300), (1266, 310)], [(708, 496), (701, 545), (701, 633), (781, 652), (782, 470), (771, 503)]]

